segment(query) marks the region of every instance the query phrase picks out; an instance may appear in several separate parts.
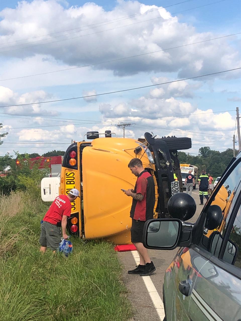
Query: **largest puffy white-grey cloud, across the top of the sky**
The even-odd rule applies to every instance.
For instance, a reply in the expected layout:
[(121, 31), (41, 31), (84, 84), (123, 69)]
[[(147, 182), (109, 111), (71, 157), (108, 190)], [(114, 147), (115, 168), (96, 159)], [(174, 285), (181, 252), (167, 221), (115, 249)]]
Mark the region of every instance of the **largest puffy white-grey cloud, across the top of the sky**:
[[(119, 22), (113, 21), (150, 9), (158, 10)], [(15, 9), (5, 8), (0, 15), (0, 41), (4, 43), (0, 51), (3, 56), (26, 58), (47, 55), (73, 66), (95, 64), (222, 36), (212, 32), (197, 32), (192, 25), (180, 23), (178, 18), (166, 9), (144, 5), (138, 1), (119, 1), (109, 11), (94, 3), (65, 8), (54, 0), (21, 1)], [(105, 22), (105, 26), (101, 27), (101, 23), (96, 24), (97, 22)], [(129, 24), (132, 25), (120, 28)], [(89, 25), (92, 26), (84, 27)], [(61, 26), (61, 30), (79, 29), (62, 35), (56, 34), (56, 31), (60, 30), (57, 26)], [(81, 26), (83, 27), (80, 28)], [(106, 29), (113, 30), (100, 32)], [(53, 34), (49, 36), (33, 38), (51, 33)], [(19, 39), (28, 40), (13, 42)], [(62, 39), (68, 40), (60, 41)], [(46, 44), (39, 45), (40, 43)], [(11, 47), (16, 44), (22, 45)], [(20, 50), (21, 47), (28, 48)], [(4, 53), (5, 50), (8, 51)], [(178, 72), (179, 77), (186, 77), (220, 71), (220, 65), (222, 70), (235, 68), (238, 59), (238, 53), (229, 45), (228, 39), (218, 39), (148, 56), (95, 65), (93, 68), (109, 69), (118, 75), (162, 71)], [(232, 73), (229, 76), (234, 75), (235, 73)]]

